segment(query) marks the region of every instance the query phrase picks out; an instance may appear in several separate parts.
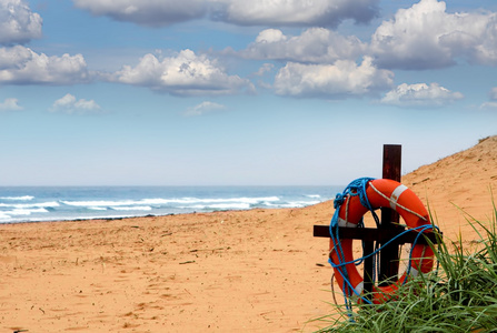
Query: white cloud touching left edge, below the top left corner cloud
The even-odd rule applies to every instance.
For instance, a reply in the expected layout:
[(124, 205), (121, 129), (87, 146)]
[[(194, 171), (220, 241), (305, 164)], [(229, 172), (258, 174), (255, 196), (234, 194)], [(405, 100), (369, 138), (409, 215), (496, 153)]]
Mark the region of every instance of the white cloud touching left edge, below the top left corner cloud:
[(48, 57), (29, 48), (0, 48), (0, 83), (10, 84), (74, 84), (90, 81), (81, 54)]

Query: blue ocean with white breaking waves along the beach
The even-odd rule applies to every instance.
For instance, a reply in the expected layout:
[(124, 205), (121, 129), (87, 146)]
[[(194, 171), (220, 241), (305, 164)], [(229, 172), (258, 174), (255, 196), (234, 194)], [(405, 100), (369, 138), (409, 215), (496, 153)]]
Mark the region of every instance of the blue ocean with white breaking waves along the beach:
[(0, 223), (304, 208), (342, 186), (0, 186)]

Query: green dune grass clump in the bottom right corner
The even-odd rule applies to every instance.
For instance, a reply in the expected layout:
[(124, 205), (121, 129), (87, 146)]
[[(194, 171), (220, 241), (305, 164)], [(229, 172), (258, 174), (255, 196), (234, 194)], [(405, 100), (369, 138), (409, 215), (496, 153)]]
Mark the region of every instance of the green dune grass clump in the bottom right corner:
[(382, 304), (338, 306), (321, 317), (319, 332), (497, 332), (497, 209), (489, 224), (467, 216), (478, 240), (444, 240), (434, 246), (438, 266), (409, 280), (398, 297)]

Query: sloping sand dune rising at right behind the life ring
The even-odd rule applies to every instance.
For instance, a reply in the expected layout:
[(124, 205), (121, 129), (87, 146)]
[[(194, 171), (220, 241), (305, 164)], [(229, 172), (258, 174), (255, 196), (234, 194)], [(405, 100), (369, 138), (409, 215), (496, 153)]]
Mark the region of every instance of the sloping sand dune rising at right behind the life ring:
[[(497, 135), (475, 147), (424, 165), (402, 176), (402, 183), (427, 202), (436, 222), (450, 239), (473, 235), (466, 219), (489, 221), (491, 190), (497, 195)], [(464, 213), (461, 213), (464, 212)]]

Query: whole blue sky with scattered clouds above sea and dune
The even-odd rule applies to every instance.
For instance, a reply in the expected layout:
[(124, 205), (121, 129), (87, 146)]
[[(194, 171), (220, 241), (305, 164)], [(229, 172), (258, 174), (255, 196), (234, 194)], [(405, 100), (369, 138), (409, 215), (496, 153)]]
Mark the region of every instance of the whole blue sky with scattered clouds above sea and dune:
[(346, 185), (495, 134), (495, 0), (0, 0), (0, 185)]

